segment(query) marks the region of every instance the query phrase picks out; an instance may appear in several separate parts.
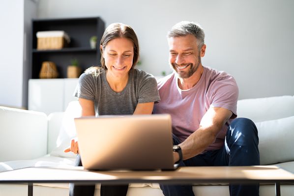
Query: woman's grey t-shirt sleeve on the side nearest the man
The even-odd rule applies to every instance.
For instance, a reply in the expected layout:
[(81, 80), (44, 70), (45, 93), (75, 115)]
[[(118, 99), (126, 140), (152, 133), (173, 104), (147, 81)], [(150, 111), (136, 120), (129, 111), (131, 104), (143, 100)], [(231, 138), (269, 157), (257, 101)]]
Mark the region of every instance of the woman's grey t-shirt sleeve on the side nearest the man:
[(146, 74), (145, 76), (139, 76), (138, 86), (138, 103), (158, 102), (160, 101), (159, 93), (157, 90), (156, 79)]

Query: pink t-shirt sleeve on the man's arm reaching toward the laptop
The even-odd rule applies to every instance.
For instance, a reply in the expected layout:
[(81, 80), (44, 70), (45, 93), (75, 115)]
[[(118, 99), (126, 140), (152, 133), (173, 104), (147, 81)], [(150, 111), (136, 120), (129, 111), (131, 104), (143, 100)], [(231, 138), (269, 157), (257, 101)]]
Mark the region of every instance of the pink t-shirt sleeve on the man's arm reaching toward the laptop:
[(237, 116), (238, 86), (233, 76), (227, 75), (210, 85), (206, 98), (211, 103), (209, 108), (225, 108), (233, 112), (231, 118)]

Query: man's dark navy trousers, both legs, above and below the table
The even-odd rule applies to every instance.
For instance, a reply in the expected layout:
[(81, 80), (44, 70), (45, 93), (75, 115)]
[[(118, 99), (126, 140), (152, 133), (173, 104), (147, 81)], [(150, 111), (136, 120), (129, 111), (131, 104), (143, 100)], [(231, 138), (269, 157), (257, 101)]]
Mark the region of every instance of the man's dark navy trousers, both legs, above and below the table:
[[(179, 144), (173, 135), (174, 144)], [(247, 118), (236, 118), (228, 128), (221, 149), (207, 151), (184, 160), (180, 166), (254, 166), (260, 165), (258, 131)], [(160, 185), (165, 196), (194, 196), (192, 185)], [(259, 196), (259, 184), (229, 185), (230, 196)]]

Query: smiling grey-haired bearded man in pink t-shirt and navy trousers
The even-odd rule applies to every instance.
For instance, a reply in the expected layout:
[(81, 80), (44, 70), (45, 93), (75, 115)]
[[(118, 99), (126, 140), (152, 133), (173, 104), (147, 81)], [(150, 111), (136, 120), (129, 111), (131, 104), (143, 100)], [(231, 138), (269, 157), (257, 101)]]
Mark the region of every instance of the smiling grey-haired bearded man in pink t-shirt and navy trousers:
[[(180, 22), (168, 33), (174, 73), (158, 81), (161, 101), (153, 112), (172, 115), (174, 161), (180, 166), (260, 165), (256, 126), (246, 118), (234, 119), (235, 79), (201, 63), (204, 37), (203, 29), (193, 22)], [(165, 196), (194, 196), (191, 185), (160, 187)], [(259, 195), (259, 185), (229, 189), (231, 196)]]

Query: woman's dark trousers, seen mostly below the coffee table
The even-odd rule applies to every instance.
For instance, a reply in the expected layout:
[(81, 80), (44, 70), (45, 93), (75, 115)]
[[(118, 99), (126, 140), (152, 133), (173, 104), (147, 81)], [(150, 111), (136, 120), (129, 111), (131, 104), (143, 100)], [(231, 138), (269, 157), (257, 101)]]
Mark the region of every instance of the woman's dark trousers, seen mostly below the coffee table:
[[(75, 166), (82, 166), (80, 155), (77, 156)], [(102, 185), (100, 188), (101, 196), (126, 196), (128, 185)], [(69, 196), (94, 196), (95, 184), (75, 185), (69, 184)]]

